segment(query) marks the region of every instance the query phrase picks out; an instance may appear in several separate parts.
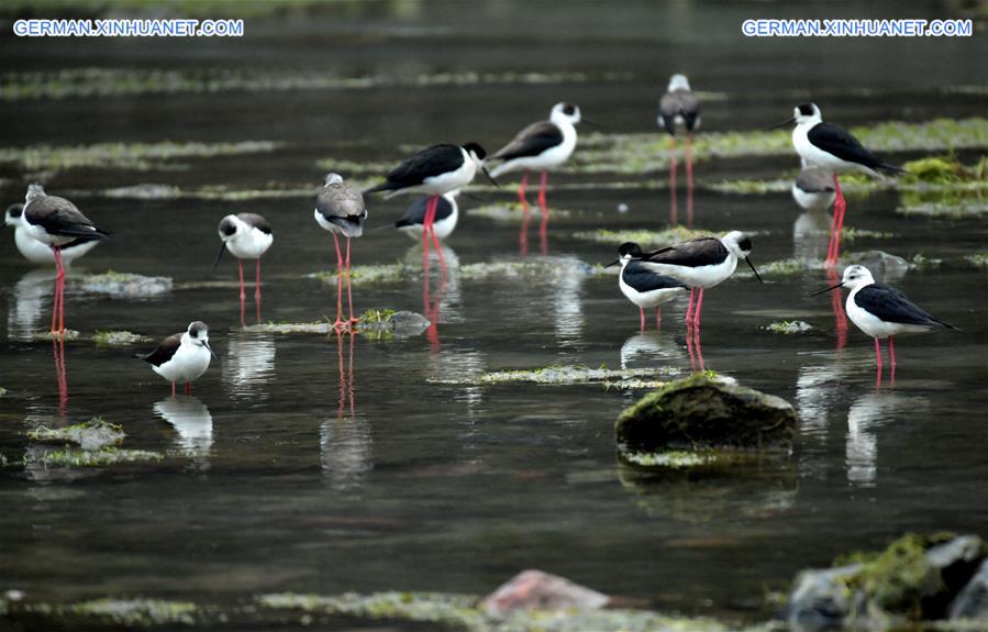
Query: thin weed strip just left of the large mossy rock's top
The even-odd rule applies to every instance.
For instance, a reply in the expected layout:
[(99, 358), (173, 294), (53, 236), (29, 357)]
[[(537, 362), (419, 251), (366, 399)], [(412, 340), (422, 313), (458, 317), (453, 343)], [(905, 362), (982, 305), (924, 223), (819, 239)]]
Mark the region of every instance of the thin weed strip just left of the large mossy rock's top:
[[(586, 366), (547, 366), (535, 369), (520, 370), (496, 370), (481, 373), (479, 375), (464, 375), (455, 379), (431, 379), (432, 384), (456, 384), (456, 385), (497, 385), (497, 384), (549, 384), (549, 385), (573, 385), (573, 384), (603, 384), (606, 386), (625, 386), (625, 380), (640, 380), (651, 378), (650, 384), (655, 382), (658, 376), (668, 377), (675, 375), (677, 370), (663, 368), (624, 368), (609, 369), (589, 368)], [(663, 384), (663, 382), (658, 382)]]

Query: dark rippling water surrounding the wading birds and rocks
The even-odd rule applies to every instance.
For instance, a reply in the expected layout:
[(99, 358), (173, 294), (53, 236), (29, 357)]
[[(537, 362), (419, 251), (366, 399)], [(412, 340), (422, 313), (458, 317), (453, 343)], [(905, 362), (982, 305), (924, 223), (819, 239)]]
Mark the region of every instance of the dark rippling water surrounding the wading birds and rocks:
[[(399, 159), (399, 145), (477, 140), (489, 148), (560, 100), (578, 102), (607, 131), (650, 131), (668, 75), (726, 99), (704, 110), (710, 130), (753, 129), (817, 98), (847, 125), (984, 114), (983, 96), (947, 86), (984, 85), (975, 41), (751, 41), (750, 16), (837, 16), (828, 4), (795, 13), (782, 4), (567, 3), (382, 4), (325, 10), (246, 25), (243, 41), (21, 41), (4, 35), (3, 71), (62, 67), (241, 68), (401, 78), (480, 73), (584, 73), (587, 81), (499, 82), (368, 89), (221, 91), (0, 102), (4, 146), (99, 142), (271, 140), (267, 154), (177, 159), (187, 170), (73, 169), (49, 191), (100, 191), (138, 182), (197, 189), (318, 186), (319, 159)], [(841, 5), (847, 16), (953, 16), (936, 4)], [(862, 63), (862, 58), (869, 63)], [(603, 79), (604, 73), (623, 73)], [(579, 149), (578, 149), (579, 151)], [(897, 159), (915, 154), (896, 155)], [(720, 160), (699, 181), (769, 177), (790, 159)], [(681, 173), (680, 173), (681, 176)], [(4, 204), (22, 197), (18, 168), (2, 167)], [(662, 176), (664, 177), (664, 175)], [(595, 176), (606, 184), (607, 176)], [(554, 176), (579, 182), (585, 177)], [(512, 199), (512, 185), (497, 199)], [(177, 282), (233, 280), (227, 262), (209, 274), (215, 223), (257, 212), (275, 229), (264, 259), (265, 320), (332, 317), (332, 290), (302, 275), (333, 263), (328, 234), (304, 198), (243, 202), (141, 201), (100, 195), (80, 206), (119, 233), (79, 268), (167, 275)], [(646, 187), (551, 193), (574, 213), (549, 224), (551, 256), (606, 263), (610, 246), (577, 230), (658, 229), (668, 197)], [(393, 221), (407, 200), (369, 201), (371, 225)], [(630, 211), (618, 213), (620, 203)], [(462, 200), (462, 208), (477, 206)], [(984, 250), (978, 221), (903, 219), (896, 193), (852, 198), (851, 225), (893, 232), (862, 240), (911, 258), (956, 259)], [(755, 262), (792, 256), (799, 213), (788, 193), (743, 197), (698, 191), (697, 224), (757, 231)], [(537, 222), (536, 222), (537, 223)], [(876, 389), (872, 341), (852, 329), (836, 351), (824, 287), (813, 273), (733, 279), (708, 292), (707, 368), (779, 395), (800, 408), (791, 468), (737, 477), (650, 480), (619, 467), (613, 421), (635, 393), (596, 386), (439, 386), (481, 370), (553, 364), (690, 368), (681, 313), (663, 333), (637, 333), (637, 313), (613, 277), (460, 279), (443, 288), (437, 335), (406, 340), (279, 336), (240, 331), (235, 290), (176, 290), (159, 300), (68, 292), (68, 324), (155, 337), (199, 319), (220, 362), (193, 398), (167, 385), (134, 350), (66, 345), (68, 400), (59, 400), (51, 343), (24, 342), (51, 310), (51, 275), (26, 265), (12, 235), (0, 244), (2, 377), (0, 444), (11, 461), (24, 431), (102, 415), (123, 424), (125, 445), (187, 456), (160, 466), (65, 472), (0, 469), (0, 589), (40, 599), (104, 595), (232, 601), (281, 590), (384, 589), (486, 592), (526, 567), (664, 608), (704, 611), (757, 602), (798, 569), (909, 530), (988, 533), (988, 378), (984, 273), (911, 270), (896, 280), (910, 297), (964, 330), (899, 342), (896, 381)], [(537, 233), (530, 257), (537, 257)], [(449, 240), (460, 265), (518, 257), (518, 228), (466, 217)], [(402, 235), (354, 243), (357, 265), (421, 254)], [(423, 310), (421, 280), (357, 287), (358, 309)], [(436, 295), (433, 280), (433, 298)], [(249, 309), (249, 308), (248, 308)], [(800, 319), (815, 331), (780, 336), (759, 328)], [(352, 355), (351, 355), (352, 354)], [(353, 362), (352, 381), (341, 381)], [(352, 404), (351, 404), (352, 398)]]

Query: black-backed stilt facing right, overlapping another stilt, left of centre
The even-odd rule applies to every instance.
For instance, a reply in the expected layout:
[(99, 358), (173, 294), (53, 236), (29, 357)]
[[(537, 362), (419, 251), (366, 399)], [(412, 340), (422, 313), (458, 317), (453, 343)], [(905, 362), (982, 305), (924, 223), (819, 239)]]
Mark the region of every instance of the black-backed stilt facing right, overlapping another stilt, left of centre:
[(428, 193), (429, 202), (422, 224), (423, 266), (429, 267), (429, 235), (440, 253), (440, 265), (446, 269), (439, 237), (433, 230), (439, 197), (462, 189), (474, 180), (477, 170), (497, 186), (484, 166), (487, 152), (477, 143), (460, 145), (440, 144), (425, 147), (407, 158), (387, 175), (380, 185), (370, 187), (365, 193), (386, 191), (385, 198), (399, 193)]

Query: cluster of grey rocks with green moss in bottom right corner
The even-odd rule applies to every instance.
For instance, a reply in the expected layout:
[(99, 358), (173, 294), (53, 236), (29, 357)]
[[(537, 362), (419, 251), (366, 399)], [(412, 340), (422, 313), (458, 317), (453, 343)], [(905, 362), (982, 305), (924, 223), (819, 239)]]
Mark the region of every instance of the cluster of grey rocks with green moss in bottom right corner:
[(907, 534), (880, 553), (851, 556), (852, 564), (800, 573), (786, 618), (808, 630), (893, 628), (976, 611), (984, 587), (976, 573), (986, 556), (976, 535)]

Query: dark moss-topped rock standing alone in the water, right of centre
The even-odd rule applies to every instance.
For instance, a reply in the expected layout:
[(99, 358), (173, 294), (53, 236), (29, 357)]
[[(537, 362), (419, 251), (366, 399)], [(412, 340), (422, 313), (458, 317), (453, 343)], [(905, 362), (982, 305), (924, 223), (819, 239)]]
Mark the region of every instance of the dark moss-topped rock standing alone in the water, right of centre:
[(742, 448), (788, 452), (796, 409), (786, 400), (696, 374), (646, 395), (615, 425), (622, 452)]

